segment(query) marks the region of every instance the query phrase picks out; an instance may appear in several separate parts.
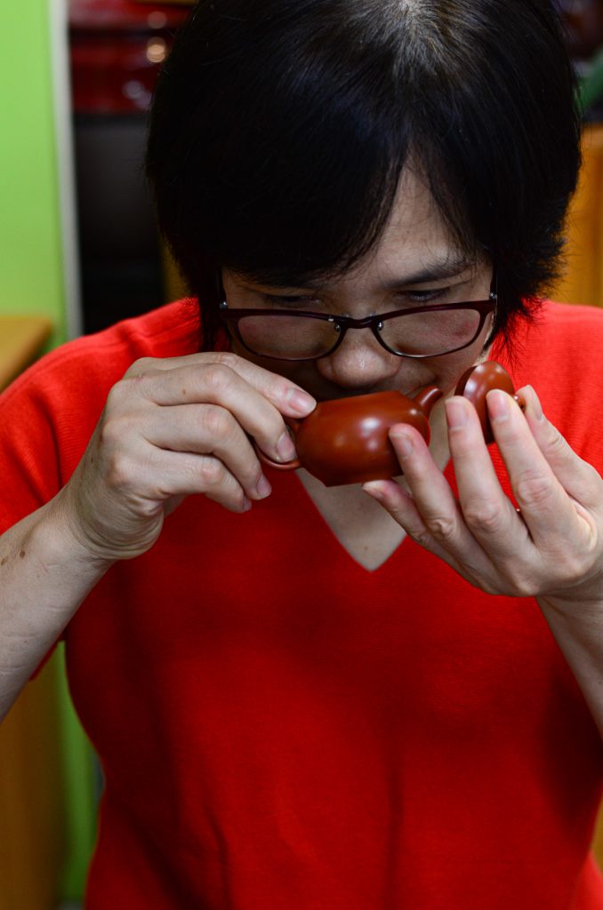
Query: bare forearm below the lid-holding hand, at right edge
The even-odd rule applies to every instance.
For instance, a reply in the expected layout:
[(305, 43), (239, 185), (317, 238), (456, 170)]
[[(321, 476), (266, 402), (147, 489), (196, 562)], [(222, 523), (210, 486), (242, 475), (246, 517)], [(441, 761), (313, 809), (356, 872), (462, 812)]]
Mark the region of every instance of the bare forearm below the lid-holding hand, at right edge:
[(537, 600), (603, 738), (603, 597), (567, 605)]

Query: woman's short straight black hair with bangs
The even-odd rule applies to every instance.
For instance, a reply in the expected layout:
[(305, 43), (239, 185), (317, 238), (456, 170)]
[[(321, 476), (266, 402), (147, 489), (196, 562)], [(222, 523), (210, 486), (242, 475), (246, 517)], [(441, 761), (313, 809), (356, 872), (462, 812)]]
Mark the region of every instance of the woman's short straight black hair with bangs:
[(159, 76), (147, 169), (205, 347), (220, 268), (290, 287), (342, 273), (411, 162), (459, 249), (496, 265), (505, 335), (557, 277), (574, 82), (547, 0), (199, 0)]

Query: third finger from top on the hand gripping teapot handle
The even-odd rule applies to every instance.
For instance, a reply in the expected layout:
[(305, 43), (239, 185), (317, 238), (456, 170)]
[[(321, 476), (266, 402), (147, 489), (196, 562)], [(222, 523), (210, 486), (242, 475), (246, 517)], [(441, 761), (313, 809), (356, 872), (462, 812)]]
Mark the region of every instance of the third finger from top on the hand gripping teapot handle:
[(213, 455), (250, 499), (261, 500), (271, 492), (248, 436), (225, 408), (210, 404), (156, 408), (149, 411), (140, 432), (159, 449)]

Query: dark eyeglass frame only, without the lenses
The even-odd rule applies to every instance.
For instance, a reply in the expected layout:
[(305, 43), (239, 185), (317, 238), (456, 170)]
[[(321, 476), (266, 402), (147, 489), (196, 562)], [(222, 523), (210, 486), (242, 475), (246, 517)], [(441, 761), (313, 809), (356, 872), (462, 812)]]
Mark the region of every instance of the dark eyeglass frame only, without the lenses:
[[(290, 310), (290, 309), (229, 309), (226, 299), (220, 302), (220, 317), (227, 324), (230, 331), (234, 334), (235, 338), (240, 341), (242, 347), (253, 354), (255, 357), (266, 357), (272, 360), (320, 360), (323, 357), (330, 357), (331, 354), (336, 351), (342, 343), (342, 340), (345, 338), (345, 333), (348, 329), (371, 329), (373, 336), (382, 348), (384, 348), (388, 353), (393, 354), (395, 357), (407, 357), (414, 360), (424, 360), (432, 357), (445, 357), (446, 354), (455, 354), (458, 350), (464, 350), (472, 345), (484, 328), (484, 323), (486, 317), (494, 312), (496, 309), (496, 302), (498, 296), (496, 293), (496, 275), (492, 278), (492, 284), (490, 285), (490, 296), (487, 300), (468, 300), (466, 302), (459, 303), (435, 303), (435, 304), (426, 304), (422, 307), (413, 307), (413, 308), (404, 308), (404, 309), (393, 309), (390, 313), (376, 313), (373, 316), (365, 316), (363, 319), (353, 319), (351, 316), (334, 316), (330, 313), (312, 313), (311, 311), (304, 310)], [(381, 334), (380, 327), (383, 326), (383, 322), (388, 319), (395, 319), (396, 317), (404, 316), (414, 316), (416, 313), (434, 313), (438, 311), (449, 311), (453, 309), (475, 309), (479, 313), (479, 323), (477, 329), (475, 329), (474, 335), (468, 341), (465, 341), (464, 344), (459, 345), (457, 348), (452, 350), (444, 350), (435, 354), (404, 354), (399, 350), (390, 348), (389, 345), (385, 343)], [(288, 316), (292, 317), (304, 317), (305, 319), (320, 319), (322, 322), (331, 322), (335, 326), (335, 330), (339, 333), (338, 338), (335, 339), (335, 343), (332, 348), (326, 351), (324, 354), (318, 354), (315, 357), (278, 357), (272, 354), (261, 354), (259, 351), (253, 350), (249, 347), (248, 344), (241, 337), (239, 329), (239, 320), (243, 319), (246, 316), (268, 316), (270, 318)]]

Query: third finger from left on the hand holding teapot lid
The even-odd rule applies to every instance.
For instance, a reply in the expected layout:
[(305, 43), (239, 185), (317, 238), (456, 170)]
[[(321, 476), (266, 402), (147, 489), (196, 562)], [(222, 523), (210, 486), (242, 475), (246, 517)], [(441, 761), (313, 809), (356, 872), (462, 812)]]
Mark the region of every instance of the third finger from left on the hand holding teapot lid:
[(526, 525), (506, 496), (485, 445), (480, 420), (471, 403), (454, 396), (445, 404), (448, 445), (455, 466), (461, 511), (467, 527), (496, 563), (522, 558), (534, 549)]

